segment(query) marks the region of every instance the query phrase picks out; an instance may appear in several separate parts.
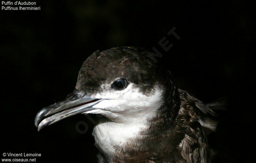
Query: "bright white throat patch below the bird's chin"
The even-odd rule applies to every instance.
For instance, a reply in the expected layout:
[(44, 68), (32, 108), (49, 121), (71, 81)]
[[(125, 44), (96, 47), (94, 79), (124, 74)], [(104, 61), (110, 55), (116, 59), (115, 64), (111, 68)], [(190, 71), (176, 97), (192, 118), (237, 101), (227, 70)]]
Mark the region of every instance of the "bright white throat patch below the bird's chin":
[(102, 117), (93, 128), (95, 144), (106, 158), (123, 157), (123, 152), (140, 145), (150, 128), (149, 118), (134, 118), (131, 122), (113, 122)]

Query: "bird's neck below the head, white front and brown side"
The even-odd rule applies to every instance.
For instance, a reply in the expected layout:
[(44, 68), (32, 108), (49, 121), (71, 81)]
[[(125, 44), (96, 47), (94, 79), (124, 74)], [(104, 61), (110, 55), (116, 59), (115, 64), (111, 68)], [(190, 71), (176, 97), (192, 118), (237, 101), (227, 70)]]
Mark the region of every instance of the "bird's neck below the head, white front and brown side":
[(101, 153), (112, 160), (151, 157), (148, 151), (161, 144), (163, 134), (172, 126), (180, 107), (179, 102), (174, 104), (174, 100), (170, 100), (171, 96), (165, 95), (165, 98), (168, 99), (163, 100), (153, 115), (144, 114), (125, 122), (101, 118), (93, 129), (95, 144)]

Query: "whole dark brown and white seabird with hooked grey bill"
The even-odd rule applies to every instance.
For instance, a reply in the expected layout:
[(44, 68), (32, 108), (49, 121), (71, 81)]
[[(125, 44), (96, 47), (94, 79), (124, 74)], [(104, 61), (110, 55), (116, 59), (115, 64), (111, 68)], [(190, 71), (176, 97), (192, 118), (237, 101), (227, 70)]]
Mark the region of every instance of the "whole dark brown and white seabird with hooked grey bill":
[(102, 115), (92, 135), (99, 163), (210, 163), (206, 130), (216, 116), (178, 88), (148, 50), (97, 50), (83, 63), (66, 100), (41, 109), (37, 130), (76, 114)]

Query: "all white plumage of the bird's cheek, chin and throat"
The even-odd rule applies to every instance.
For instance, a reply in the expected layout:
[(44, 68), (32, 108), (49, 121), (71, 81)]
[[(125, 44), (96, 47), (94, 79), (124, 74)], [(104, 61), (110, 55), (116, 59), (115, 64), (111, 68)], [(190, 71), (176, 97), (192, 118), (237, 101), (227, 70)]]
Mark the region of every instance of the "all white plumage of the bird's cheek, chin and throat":
[(162, 105), (162, 93), (156, 87), (151, 95), (145, 95), (130, 84), (123, 91), (106, 91), (94, 95), (99, 99), (111, 97), (94, 105), (94, 110), (86, 112), (107, 117), (102, 118), (93, 129), (98, 148), (111, 156), (116, 152), (116, 146), (125, 147), (127, 143), (135, 142), (140, 137), (140, 131), (150, 126), (148, 120), (156, 116)]

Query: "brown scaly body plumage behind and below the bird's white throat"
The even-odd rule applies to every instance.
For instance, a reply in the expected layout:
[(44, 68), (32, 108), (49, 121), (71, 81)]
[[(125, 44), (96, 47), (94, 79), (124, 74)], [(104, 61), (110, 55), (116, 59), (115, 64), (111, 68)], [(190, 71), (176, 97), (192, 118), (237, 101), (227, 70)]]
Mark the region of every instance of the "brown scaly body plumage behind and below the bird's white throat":
[[(166, 122), (159, 110), (157, 117), (148, 121), (151, 131), (142, 131), (141, 137), (133, 140), (132, 144), (115, 147), (116, 155), (111, 158), (113, 163), (211, 162), (210, 147), (198, 116), (214, 115), (214, 112), (186, 91), (179, 89), (178, 92), (180, 109), (174, 123), (164, 127)], [(108, 162), (101, 153), (98, 159), (100, 163)]]

